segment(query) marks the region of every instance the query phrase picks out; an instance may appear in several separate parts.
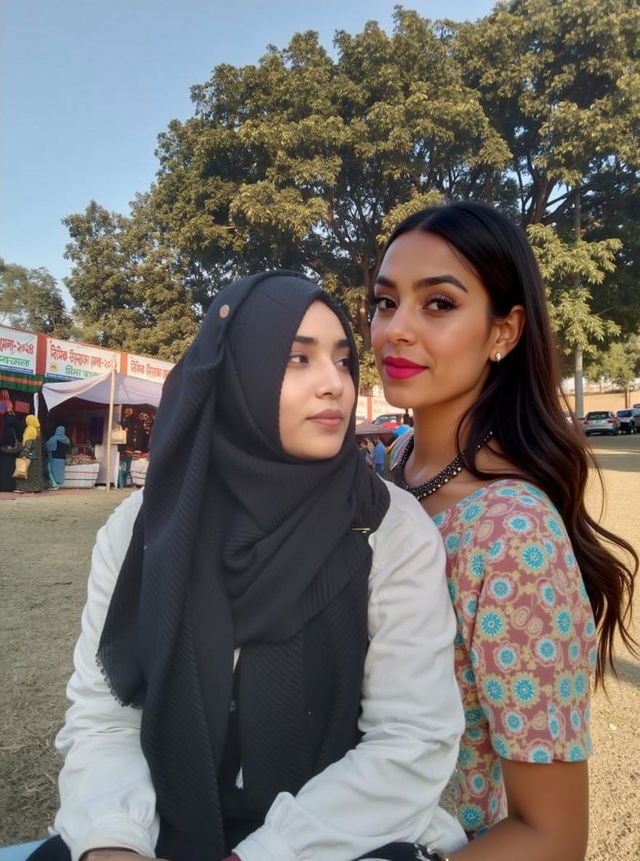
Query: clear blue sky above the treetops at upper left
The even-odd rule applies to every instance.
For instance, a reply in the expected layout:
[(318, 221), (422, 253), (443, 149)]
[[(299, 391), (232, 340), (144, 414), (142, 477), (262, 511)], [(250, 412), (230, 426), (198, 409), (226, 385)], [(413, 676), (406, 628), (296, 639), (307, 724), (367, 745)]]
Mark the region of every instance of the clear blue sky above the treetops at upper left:
[[(69, 273), (61, 223), (91, 199), (128, 212), (153, 181), (157, 135), (192, 115), (189, 88), (218, 63), (317, 30), (391, 30), (396, 0), (2, 0), (0, 257)], [(493, 0), (414, 0), (428, 18), (475, 19)], [(66, 296), (68, 299), (69, 297)]]

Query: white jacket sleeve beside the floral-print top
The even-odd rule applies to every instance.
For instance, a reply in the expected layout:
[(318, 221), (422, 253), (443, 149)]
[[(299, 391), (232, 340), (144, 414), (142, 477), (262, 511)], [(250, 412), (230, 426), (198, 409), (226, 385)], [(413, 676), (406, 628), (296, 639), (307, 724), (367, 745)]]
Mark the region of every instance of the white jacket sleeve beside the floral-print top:
[(236, 848), (242, 861), (348, 861), (396, 840), (453, 850), (462, 828), (438, 807), (464, 727), (455, 681), (455, 618), (440, 535), (422, 507), (389, 486), (370, 539), (370, 645), (360, 744)]

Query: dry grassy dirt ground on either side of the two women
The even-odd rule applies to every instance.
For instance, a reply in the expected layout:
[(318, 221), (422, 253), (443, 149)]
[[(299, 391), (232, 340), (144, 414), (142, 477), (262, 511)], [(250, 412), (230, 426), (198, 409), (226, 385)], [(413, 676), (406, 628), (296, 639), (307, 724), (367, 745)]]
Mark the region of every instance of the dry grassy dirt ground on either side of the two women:
[[(640, 549), (640, 436), (591, 443), (606, 485), (602, 520)], [(53, 738), (66, 707), (91, 547), (128, 493), (0, 499), (0, 846), (44, 837), (52, 821), (60, 767)], [(589, 505), (598, 516), (595, 486)], [(635, 603), (638, 637), (640, 588)], [(621, 652), (619, 671), (608, 695), (593, 700), (588, 861), (640, 858), (640, 662)]]

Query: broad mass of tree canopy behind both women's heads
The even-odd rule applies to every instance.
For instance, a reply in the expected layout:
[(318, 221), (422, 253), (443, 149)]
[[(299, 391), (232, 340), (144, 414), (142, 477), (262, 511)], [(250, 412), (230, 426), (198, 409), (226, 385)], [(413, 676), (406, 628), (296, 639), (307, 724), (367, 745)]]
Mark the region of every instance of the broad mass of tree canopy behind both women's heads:
[(309, 31), (217, 66), (159, 135), (131, 212), (91, 202), (65, 219), (85, 338), (173, 358), (224, 284), (291, 268), (343, 302), (369, 382), (385, 236), (465, 198), (528, 226), (564, 349), (636, 329), (636, 3), (511, 0), (463, 24), (397, 7), (391, 34), (369, 22), (334, 48)]

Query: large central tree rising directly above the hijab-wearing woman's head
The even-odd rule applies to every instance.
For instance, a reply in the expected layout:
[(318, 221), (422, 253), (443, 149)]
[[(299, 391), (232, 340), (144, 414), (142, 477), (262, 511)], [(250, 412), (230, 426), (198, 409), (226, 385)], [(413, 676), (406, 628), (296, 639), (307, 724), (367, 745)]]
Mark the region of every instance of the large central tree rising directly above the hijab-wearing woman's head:
[(151, 203), (202, 306), (238, 274), (302, 268), (338, 288), (366, 343), (385, 214), (434, 190), (480, 193), (508, 150), (416, 13), (398, 10), (391, 36), (340, 32), (336, 50), (308, 32), (257, 65), (217, 67), (193, 88), (195, 116), (160, 137)]

